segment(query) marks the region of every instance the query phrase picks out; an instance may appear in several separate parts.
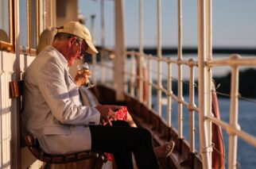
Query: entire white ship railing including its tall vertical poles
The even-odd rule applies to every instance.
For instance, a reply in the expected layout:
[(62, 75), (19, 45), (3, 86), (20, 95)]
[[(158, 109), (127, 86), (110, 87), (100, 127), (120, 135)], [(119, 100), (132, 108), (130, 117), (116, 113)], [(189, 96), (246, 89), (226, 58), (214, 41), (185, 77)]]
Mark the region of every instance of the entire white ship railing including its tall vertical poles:
[[(130, 96), (138, 98), (145, 106), (152, 109), (152, 90), (157, 90), (157, 115), (166, 121), (169, 127), (172, 127), (172, 103), (177, 104), (177, 128), (180, 139), (183, 136), (183, 107), (188, 109), (189, 113), (189, 145), (190, 152), (196, 152), (195, 148), (195, 113), (199, 113), (199, 138), (200, 148), (199, 152), (202, 157), (203, 168), (211, 168), (211, 123), (219, 125), (227, 132), (228, 135), (228, 168), (237, 168), (237, 142), (238, 138), (246, 141), (246, 143), (256, 147), (256, 137), (242, 131), (239, 127), (239, 68), (240, 67), (256, 67), (256, 56), (250, 58), (240, 57), (239, 55), (231, 55), (226, 59), (215, 60), (212, 59), (212, 44), (211, 44), (211, 0), (198, 0), (198, 59), (184, 60), (182, 55), (182, 1), (178, 0), (178, 45), (177, 58), (161, 57), (161, 0), (157, 0), (157, 56), (145, 55), (142, 48), (142, 0), (139, 1), (139, 29), (140, 29), (140, 43), (139, 52), (125, 51), (125, 57), (128, 58), (122, 65), (114, 65), (111, 60), (114, 60), (114, 52), (109, 50), (103, 54), (101, 61), (100, 73), (103, 84), (114, 86), (114, 67), (125, 67), (123, 72), (125, 78), (124, 89)], [(101, 54), (102, 55), (102, 54)], [(144, 61), (143, 61), (144, 60)], [(143, 67), (143, 63), (145, 63)], [(156, 64), (153, 67), (153, 62)], [(173, 66), (177, 67), (177, 71), (173, 72)], [(167, 67), (166, 72), (162, 72), (163, 67)], [(231, 67), (231, 93), (230, 95), (230, 115), (229, 122), (219, 120), (211, 114), (211, 92), (215, 92), (211, 88), (212, 69), (214, 67)], [(183, 98), (183, 71), (188, 68), (189, 71), (189, 100), (186, 102)], [(143, 69), (147, 72), (147, 76), (142, 73), (138, 75), (138, 71)], [(155, 71), (157, 70), (157, 71)], [(195, 73), (197, 71), (197, 74)], [(156, 77), (153, 78), (153, 75)], [(172, 82), (176, 75), (177, 94), (173, 93)], [(110, 79), (107, 80), (107, 77)], [(195, 76), (198, 78), (198, 106), (195, 103)], [(167, 80), (167, 86), (163, 86), (163, 77)], [(154, 79), (154, 80), (153, 80)], [(143, 84), (147, 85), (148, 98), (143, 98)], [(196, 88), (197, 89), (197, 88)], [(162, 94), (166, 95), (167, 113), (166, 117), (162, 117)], [(186, 129), (188, 130), (188, 129)]]

